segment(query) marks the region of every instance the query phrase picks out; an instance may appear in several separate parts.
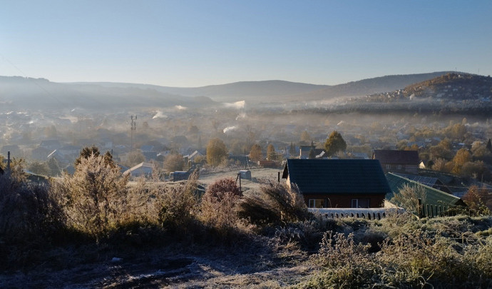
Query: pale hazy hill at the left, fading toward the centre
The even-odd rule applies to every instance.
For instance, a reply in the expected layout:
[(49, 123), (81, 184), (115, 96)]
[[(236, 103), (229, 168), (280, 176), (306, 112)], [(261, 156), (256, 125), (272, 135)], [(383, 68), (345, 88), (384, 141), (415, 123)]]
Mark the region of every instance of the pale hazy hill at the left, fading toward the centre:
[(97, 83), (55, 83), (44, 78), (0, 76), (0, 103), (8, 110), (81, 108), (113, 111), (121, 108), (212, 105), (210, 98), (183, 97), (153, 88), (108, 87)]

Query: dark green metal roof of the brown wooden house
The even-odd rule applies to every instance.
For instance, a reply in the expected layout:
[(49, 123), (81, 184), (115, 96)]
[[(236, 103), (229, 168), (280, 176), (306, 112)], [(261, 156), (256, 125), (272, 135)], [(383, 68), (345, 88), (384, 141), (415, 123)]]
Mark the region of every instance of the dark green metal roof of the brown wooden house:
[(289, 176), (301, 193), (389, 193), (378, 160), (289, 159), (282, 178)]

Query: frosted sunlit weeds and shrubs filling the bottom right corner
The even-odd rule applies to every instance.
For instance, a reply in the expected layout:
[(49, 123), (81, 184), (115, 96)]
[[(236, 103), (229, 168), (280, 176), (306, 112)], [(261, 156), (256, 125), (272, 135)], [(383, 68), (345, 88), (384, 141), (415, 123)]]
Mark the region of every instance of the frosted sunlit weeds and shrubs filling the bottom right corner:
[[(329, 231), (314, 256), (322, 272), (299, 288), (488, 288), (492, 237), (471, 233), (484, 224), (490, 220), (403, 216), (368, 221), (349, 234)], [(371, 253), (371, 245), (360, 238), (367, 232), (390, 232), (379, 242), (378, 253)]]

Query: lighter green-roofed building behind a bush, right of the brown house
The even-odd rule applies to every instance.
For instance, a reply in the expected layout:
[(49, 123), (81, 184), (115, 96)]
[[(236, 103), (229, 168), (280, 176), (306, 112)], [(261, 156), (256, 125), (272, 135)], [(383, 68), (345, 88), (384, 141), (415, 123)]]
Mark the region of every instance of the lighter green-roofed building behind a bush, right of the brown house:
[(425, 198), (421, 200), (421, 206), (419, 208), (419, 216), (421, 217), (443, 216), (452, 208), (466, 206), (461, 198), (453, 196), (451, 193), (439, 191), (436, 188), (431, 188), (430, 186), (405, 178), (404, 176), (395, 173), (386, 173), (386, 178), (388, 179), (389, 187), (391, 188), (391, 193), (386, 195), (386, 199), (389, 201), (391, 201), (391, 198), (399, 193), (404, 186), (424, 188)]

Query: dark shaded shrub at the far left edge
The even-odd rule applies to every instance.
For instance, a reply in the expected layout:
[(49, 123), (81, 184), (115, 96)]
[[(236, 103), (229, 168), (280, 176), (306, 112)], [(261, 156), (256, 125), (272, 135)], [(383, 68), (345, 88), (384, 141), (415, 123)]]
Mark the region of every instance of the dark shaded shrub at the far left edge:
[(25, 268), (63, 230), (61, 207), (48, 189), (25, 182), (21, 166), (0, 175), (0, 270)]

